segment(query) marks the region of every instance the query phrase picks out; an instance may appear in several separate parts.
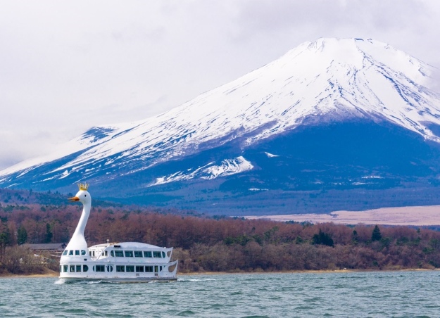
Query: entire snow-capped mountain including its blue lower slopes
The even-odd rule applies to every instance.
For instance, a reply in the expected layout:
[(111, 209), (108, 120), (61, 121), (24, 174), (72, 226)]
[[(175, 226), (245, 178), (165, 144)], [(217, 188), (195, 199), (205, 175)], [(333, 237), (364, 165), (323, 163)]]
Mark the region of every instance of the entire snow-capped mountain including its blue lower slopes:
[(306, 42), (161, 115), (92, 127), (0, 186), (87, 181), (101, 198), (234, 215), (439, 204), (434, 70), (372, 39)]

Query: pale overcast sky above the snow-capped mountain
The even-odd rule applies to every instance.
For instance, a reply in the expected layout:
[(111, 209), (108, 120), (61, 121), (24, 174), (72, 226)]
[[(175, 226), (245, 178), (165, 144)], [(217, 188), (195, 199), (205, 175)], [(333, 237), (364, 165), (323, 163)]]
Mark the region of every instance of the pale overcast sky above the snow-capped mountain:
[[(320, 37), (440, 68), (437, 0), (0, 0), (0, 170), (175, 108)], [(440, 92), (440, 76), (432, 88)]]

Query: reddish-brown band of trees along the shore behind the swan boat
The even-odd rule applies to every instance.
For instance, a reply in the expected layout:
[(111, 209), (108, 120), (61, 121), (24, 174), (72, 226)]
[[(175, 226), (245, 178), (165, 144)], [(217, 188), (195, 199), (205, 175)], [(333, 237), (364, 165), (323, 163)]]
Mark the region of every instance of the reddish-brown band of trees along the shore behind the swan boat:
[[(19, 244), (67, 243), (81, 210), (75, 204), (0, 208), (0, 270), (8, 271), (8, 250), (22, 248)], [(440, 267), (440, 232), (425, 228), (195, 217), (117, 207), (92, 208), (85, 235), (89, 245), (109, 239), (174, 247), (180, 272)]]

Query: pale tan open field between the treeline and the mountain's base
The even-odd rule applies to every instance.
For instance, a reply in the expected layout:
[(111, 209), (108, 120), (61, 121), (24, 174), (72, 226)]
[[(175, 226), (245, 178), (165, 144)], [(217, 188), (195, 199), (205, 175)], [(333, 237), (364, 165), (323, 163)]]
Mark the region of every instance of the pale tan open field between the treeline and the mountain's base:
[(334, 211), (330, 214), (262, 215), (246, 219), (268, 219), (280, 222), (312, 222), (334, 224), (440, 225), (440, 205), (379, 208), (365, 211)]

